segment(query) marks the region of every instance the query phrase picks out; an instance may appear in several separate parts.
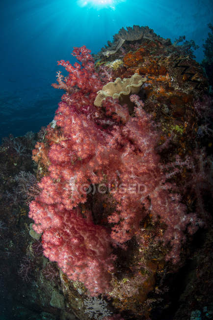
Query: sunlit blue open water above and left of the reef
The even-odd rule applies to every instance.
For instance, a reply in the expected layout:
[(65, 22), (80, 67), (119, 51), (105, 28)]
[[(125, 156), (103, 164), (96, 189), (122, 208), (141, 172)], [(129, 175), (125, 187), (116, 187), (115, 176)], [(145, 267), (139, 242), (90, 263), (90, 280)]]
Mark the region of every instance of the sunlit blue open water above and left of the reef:
[(210, 22), (212, 0), (121, 0), (107, 7), (78, 0), (1, 0), (0, 137), (38, 131), (52, 121), (62, 95), (51, 87), (56, 62), (74, 62), (74, 46), (97, 53), (121, 27), (147, 25), (172, 41), (180, 35), (193, 39), (201, 62)]

